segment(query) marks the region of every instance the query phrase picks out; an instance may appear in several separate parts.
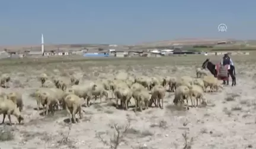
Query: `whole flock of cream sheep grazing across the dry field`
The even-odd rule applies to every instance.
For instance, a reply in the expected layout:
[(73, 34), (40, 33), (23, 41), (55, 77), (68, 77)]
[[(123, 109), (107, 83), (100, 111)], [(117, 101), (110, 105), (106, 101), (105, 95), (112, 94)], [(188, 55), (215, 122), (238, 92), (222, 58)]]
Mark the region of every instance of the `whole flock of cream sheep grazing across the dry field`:
[[(206, 104), (204, 92), (210, 87), (210, 92), (217, 92), (222, 88), (219, 80), (212, 75), (206, 75), (205, 70), (196, 69), (197, 78), (190, 76), (181, 77), (149, 77), (149, 76), (132, 76), (130, 74), (119, 72), (113, 79), (99, 79), (95, 82), (82, 82), (74, 76), (50, 77), (43, 73), (39, 76), (41, 87), (31, 93), (31, 97), (37, 102), (37, 110), (40, 105), (43, 106), (43, 115), (48, 112), (65, 109), (69, 114), (70, 122), (78, 122), (75, 115), (78, 114), (82, 118), (82, 105), (90, 106), (91, 99), (99, 97), (100, 102), (103, 96), (108, 99), (108, 93), (111, 99), (116, 99), (116, 108), (119, 106), (125, 110), (129, 108), (131, 99), (135, 100), (135, 110), (142, 111), (142, 106), (148, 109), (152, 103), (156, 107), (164, 108), (164, 97), (166, 92), (174, 92), (174, 104), (184, 105), (184, 101), (191, 100), (191, 106)], [(201, 74), (204, 74), (201, 77)], [(9, 74), (2, 74), (1, 86), (8, 87), (11, 80)], [(168, 88), (167, 88), (168, 87)], [(83, 98), (83, 99), (82, 99)], [(119, 105), (120, 100), (120, 105)], [(95, 103), (94, 101), (94, 103)], [(196, 102), (196, 105), (195, 105)], [(24, 120), (23, 115), (23, 99), (21, 93), (12, 91), (9, 93), (1, 92), (0, 95), (0, 114), (3, 114), (4, 123), (5, 116), (8, 115), (11, 124), (11, 115), (17, 117), (18, 122)]]

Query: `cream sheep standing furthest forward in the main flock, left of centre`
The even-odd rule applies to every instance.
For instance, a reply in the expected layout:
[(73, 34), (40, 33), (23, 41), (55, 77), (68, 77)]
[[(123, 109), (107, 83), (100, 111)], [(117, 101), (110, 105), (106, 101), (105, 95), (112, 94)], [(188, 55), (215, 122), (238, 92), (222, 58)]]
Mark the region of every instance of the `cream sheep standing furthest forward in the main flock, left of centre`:
[(79, 96), (76, 95), (68, 95), (64, 99), (65, 101), (65, 106), (66, 106), (66, 111), (69, 114), (69, 122), (72, 123), (72, 119), (74, 123), (77, 123), (75, 115), (78, 113), (79, 118), (82, 119), (82, 101)]

